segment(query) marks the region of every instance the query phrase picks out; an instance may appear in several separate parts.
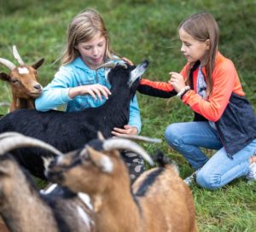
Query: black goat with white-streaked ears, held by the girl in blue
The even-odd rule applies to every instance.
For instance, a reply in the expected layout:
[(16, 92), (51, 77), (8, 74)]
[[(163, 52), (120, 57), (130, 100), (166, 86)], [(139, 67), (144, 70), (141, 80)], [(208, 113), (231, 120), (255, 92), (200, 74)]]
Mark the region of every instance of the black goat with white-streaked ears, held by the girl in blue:
[[(148, 67), (144, 61), (137, 67), (116, 65), (108, 73), (112, 95), (101, 107), (87, 108), (81, 112), (64, 113), (50, 110), (21, 109), (0, 119), (0, 133), (20, 132), (25, 136), (48, 142), (62, 153), (81, 148), (84, 143), (96, 138), (97, 131), (111, 136), (113, 127), (122, 128), (128, 123), (129, 106), (139, 85), (139, 77)], [(34, 176), (44, 177), (44, 161), (53, 154), (38, 148), (20, 148), (12, 152), (20, 165)]]

